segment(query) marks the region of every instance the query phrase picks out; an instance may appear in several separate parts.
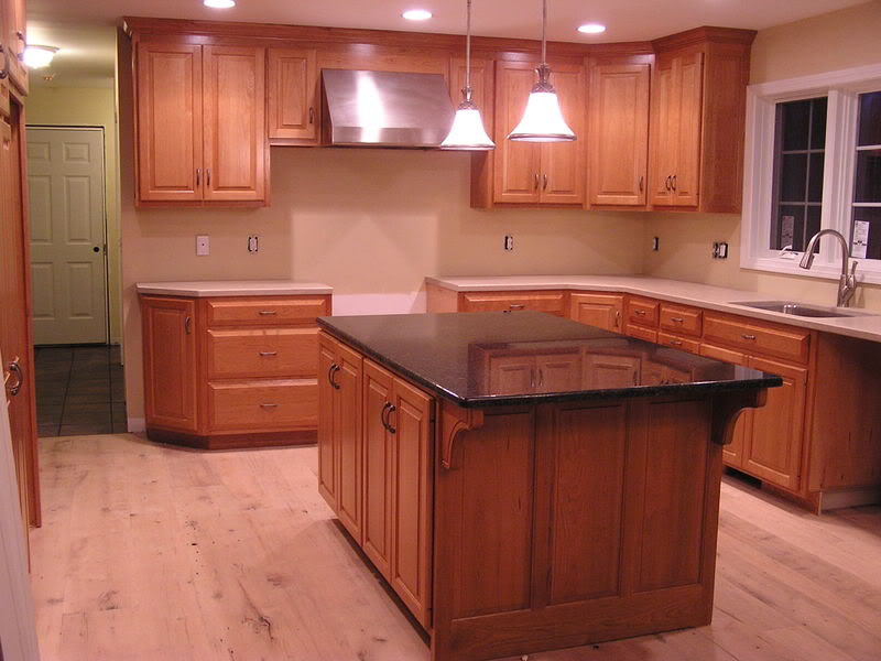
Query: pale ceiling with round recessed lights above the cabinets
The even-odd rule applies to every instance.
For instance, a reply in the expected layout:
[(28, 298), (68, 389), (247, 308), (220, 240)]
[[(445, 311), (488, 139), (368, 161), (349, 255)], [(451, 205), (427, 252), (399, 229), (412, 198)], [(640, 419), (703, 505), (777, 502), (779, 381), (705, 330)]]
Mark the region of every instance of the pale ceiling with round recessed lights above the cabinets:
[[(31, 43), (61, 46), (52, 66), (53, 84), (80, 84), (112, 77), (112, 30), (123, 15), (210, 19), (295, 25), (334, 25), (439, 33), (465, 31), (465, 0), (237, 0), (213, 10), (202, 0), (29, 0)], [(866, 0), (548, 0), (548, 39), (572, 42), (651, 40), (698, 25), (761, 30)], [(428, 9), (434, 18), (405, 21), (405, 9)], [(474, 0), (475, 34), (535, 39), (541, 0)], [(585, 22), (608, 26), (605, 34), (581, 35)], [(105, 26), (101, 31), (98, 26)], [(40, 84), (40, 80), (37, 80)]]

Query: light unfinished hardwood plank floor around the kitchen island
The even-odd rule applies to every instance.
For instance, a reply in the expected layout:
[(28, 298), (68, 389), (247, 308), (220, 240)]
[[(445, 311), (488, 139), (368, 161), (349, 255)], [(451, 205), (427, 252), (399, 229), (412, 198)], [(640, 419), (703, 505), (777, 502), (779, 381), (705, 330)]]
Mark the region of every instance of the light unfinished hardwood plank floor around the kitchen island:
[[(314, 447), (41, 441), (46, 661), (427, 661), (317, 492)], [(531, 661), (878, 661), (881, 508), (816, 518), (722, 485), (713, 626)]]

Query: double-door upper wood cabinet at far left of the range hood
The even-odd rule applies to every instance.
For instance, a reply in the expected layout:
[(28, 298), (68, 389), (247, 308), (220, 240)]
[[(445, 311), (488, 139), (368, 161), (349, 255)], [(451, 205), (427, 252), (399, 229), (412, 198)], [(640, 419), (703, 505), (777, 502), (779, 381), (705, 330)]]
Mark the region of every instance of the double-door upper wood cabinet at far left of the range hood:
[(263, 203), (265, 48), (139, 41), (139, 203)]

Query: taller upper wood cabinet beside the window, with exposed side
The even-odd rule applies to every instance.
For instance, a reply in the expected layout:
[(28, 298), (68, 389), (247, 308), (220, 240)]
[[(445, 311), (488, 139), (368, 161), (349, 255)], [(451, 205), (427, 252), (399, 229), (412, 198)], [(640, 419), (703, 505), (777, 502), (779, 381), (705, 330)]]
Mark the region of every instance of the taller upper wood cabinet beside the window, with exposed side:
[(699, 28), (653, 42), (649, 203), (740, 210), (753, 32)]

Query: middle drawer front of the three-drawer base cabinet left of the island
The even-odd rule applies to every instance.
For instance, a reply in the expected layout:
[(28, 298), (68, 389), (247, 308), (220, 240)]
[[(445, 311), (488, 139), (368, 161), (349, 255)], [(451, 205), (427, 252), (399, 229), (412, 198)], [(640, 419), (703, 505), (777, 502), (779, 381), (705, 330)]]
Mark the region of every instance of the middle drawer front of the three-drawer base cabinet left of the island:
[(208, 330), (208, 379), (318, 373), (318, 329)]

